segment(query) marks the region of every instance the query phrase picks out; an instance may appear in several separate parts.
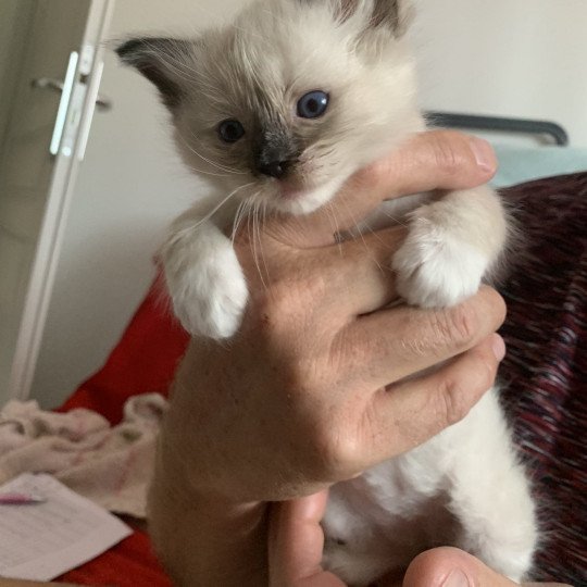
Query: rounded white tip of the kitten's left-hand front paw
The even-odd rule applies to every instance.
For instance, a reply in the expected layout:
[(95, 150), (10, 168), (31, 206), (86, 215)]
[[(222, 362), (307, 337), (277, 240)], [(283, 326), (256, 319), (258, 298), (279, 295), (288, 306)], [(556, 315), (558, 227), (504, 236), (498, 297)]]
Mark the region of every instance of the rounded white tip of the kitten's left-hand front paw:
[(166, 273), (175, 315), (191, 335), (229, 338), (240, 326), (249, 297), (242, 268), (229, 246), (199, 253), (175, 275)]

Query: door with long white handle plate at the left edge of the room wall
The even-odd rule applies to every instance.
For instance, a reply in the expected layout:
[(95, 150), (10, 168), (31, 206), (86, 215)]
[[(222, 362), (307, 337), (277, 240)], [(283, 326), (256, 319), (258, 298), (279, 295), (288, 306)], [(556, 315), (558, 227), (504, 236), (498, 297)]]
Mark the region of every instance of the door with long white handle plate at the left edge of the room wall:
[(30, 387), (113, 2), (0, 3), (0, 407)]

